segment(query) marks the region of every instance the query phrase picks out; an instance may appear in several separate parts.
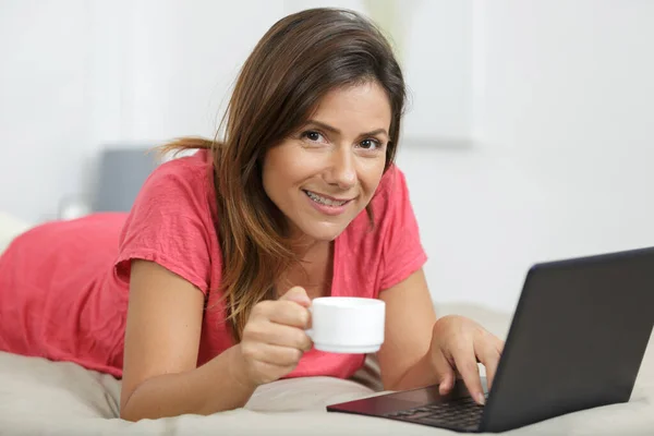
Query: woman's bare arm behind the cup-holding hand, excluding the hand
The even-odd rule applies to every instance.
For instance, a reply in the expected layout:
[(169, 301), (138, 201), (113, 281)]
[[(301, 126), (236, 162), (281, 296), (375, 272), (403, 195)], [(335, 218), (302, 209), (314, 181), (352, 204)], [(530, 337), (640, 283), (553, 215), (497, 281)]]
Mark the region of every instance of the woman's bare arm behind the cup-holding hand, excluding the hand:
[(204, 294), (183, 278), (152, 262), (132, 262), (122, 419), (208, 414), (247, 401), (255, 387), (238, 379), (235, 347), (196, 368), (203, 308)]

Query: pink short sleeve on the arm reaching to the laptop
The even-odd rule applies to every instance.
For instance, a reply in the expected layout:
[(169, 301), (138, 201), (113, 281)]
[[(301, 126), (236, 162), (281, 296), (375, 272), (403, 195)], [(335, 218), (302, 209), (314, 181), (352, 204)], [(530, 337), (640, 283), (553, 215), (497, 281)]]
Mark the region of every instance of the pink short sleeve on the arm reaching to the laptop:
[(380, 290), (400, 283), (427, 261), (404, 174), (395, 166), (389, 172), (385, 181), (387, 201), (383, 218), (385, 232)]

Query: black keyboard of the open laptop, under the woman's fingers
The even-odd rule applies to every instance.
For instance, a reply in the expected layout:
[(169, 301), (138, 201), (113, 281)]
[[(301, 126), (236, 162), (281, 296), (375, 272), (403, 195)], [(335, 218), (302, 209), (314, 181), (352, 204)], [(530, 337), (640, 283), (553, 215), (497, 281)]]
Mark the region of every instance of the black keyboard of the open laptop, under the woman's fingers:
[(476, 428), (482, 419), (483, 411), (483, 405), (479, 405), (471, 397), (465, 397), (441, 403), (387, 413), (384, 416), (433, 426)]

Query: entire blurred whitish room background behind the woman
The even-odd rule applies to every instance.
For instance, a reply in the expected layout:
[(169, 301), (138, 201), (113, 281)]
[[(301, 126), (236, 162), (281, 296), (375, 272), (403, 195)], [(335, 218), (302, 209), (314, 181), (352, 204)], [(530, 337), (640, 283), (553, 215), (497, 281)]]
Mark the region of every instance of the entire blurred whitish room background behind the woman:
[(437, 302), (510, 311), (534, 262), (654, 245), (649, 0), (0, 0), (0, 213), (129, 207), (144, 150), (213, 136), (256, 41), (319, 5), (372, 16), (404, 68)]

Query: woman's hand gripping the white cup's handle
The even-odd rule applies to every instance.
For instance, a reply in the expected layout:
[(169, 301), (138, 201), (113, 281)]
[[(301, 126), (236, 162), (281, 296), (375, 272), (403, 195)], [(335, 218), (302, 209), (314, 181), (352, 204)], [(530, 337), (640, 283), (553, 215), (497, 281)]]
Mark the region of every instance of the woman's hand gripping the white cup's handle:
[(291, 288), (279, 300), (262, 301), (252, 308), (240, 347), (241, 383), (259, 386), (292, 372), (313, 343), (308, 328), (311, 300), (303, 288)]

